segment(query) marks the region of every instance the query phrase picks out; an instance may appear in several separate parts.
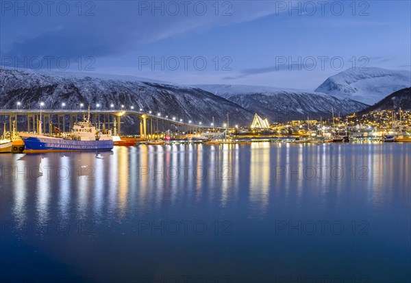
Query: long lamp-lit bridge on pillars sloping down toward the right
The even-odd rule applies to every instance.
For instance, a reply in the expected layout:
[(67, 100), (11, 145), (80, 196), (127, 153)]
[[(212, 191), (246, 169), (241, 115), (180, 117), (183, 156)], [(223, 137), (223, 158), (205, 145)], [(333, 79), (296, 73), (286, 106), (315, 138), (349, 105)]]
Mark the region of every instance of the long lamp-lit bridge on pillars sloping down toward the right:
[[(66, 123), (70, 121), (69, 129), (77, 121), (81, 121), (88, 115), (88, 110), (16, 110), (3, 109), (0, 110), (0, 117), (3, 121), (9, 121), (9, 130), (12, 129), (14, 121), (18, 121), (18, 116), (26, 116), (27, 118), (27, 132), (38, 132), (38, 121), (42, 121), (42, 132), (46, 133), (47, 125), (48, 132), (51, 134), (54, 125), (66, 132)], [(41, 117), (40, 117), (41, 116)], [(114, 128), (116, 134), (121, 134), (121, 117), (132, 116), (140, 120), (140, 138), (160, 137), (165, 131), (171, 130), (173, 133), (181, 134), (195, 134), (205, 131), (221, 131), (227, 130), (227, 127), (214, 127), (213, 124), (206, 125), (206, 123), (195, 121), (184, 121), (177, 117), (162, 116), (162, 114), (153, 114), (150, 112), (143, 112), (138, 110), (90, 110), (90, 120), (95, 125), (102, 125), (105, 128)], [(159, 125), (160, 124), (160, 125)], [(112, 125), (112, 127), (111, 127)]]

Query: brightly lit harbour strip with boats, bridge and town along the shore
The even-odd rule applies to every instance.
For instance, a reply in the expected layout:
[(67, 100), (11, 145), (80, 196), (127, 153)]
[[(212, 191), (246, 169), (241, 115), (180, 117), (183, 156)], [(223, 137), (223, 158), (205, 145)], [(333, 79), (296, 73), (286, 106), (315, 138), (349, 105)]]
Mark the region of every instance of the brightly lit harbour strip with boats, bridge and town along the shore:
[[(219, 144), (249, 144), (260, 142), (271, 143), (364, 143), (364, 142), (411, 142), (411, 114), (406, 111), (403, 112), (401, 108), (398, 112), (390, 112), (392, 116), (392, 123), (390, 127), (386, 125), (378, 130), (375, 123), (370, 125), (362, 125), (366, 130), (375, 127), (372, 132), (365, 132), (359, 134), (358, 125), (351, 126), (349, 130), (349, 117), (345, 118), (345, 125), (341, 124), (341, 119), (338, 119), (340, 128), (336, 127), (336, 121), (333, 119), (328, 123), (332, 123), (332, 127), (325, 127), (325, 123), (321, 121), (289, 121), (283, 124), (270, 125), (267, 119), (262, 120), (258, 114), (255, 114), (254, 119), (249, 127), (242, 126), (229, 128), (228, 113), (227, 123), (221, 127), (214, 127), (214, 117), (212, 123), (207, 125), (192, 123), (192, 121), (184, 121), (183, 119), (176, 119), (175, 117), (162, 116), (132, 110), (127, 113), (126, 110), (121, 112), (113, 110), (94, 110), (92, 111), (92, 120), (90, 121), (90, 106), (88, 112), (66, 110), (66, 114), (58, 112), (57, 125), (53, 125), (53, 114), (56, 115), (55, 110), (4, 110), (0, 116), (8, 117), (10, 132), (6, 131), (5, 123), (3, 128), (3, 138), (1, 141), (1, 152), (45, 152), (45, 151), (78, 151), (78, 150), (94, 150), (103, 151), (111, 150), (115, 146), (136, 146), (141, 144), (147, 145), (169, 145), (175, 143), (204, 143), (208, 145)], [(384, 114), (384, 112), (382, 112)], [(18, 114), (26, 116), (27, 130), (30, 130), (30, 117), (32, 117), (32, 129), (35, 132), (18, 133), (16, 131), (16, 123), (18, 121)], [(79, 115), (80, 114), (80, 119)], [(87, 114), (87, 116), (86, 116)], [(135, 115), (140, 119), (140, 133), (134, 136), (120, 136), (121, 131), (121, 116), (127, 114)], [(71, 132), (64, 132), (66, 127), (65, 116), (70, 116), (70, 123), (73, 123), (73, 130)], [(103, 115), (103, 121), (101, 121)], [(399, 115), (399, 121), (395, 121), (394, 117)], [(403, 116), (406, 118), (403, 121)], [(110, 118), (112, 116), (112, 118)], [(34, 119), (36, 117), (36, 119)], [(42, 125), (42, 121), (47, 117), (49, 123), (49, 130), (47, 134), (46, 127)], [(351, 118), (356, 117), (355, 114)], [(83, 121), (81, 121), (83, 119)], [(358, 119), (357, 119), (358, 120)], [(36, 124), (34, 123), (36, 121)], [(55, 121), (55, 120), (54, 120)], [(79, 121), (79, 122), (78, 122)], [(158, 125), (160, 121), (160, 126)], [(404, 122), (404, 123), (403, 123)], [(61, 125), (60, 125), (61, 123)], [(96, 126), (98, 125), (98, 130)], [(110, 125), (113, 129), (110, 128)], [(150, 129), (147, 132), (147, 127)], [(154, 125), (154, 127), (153, 127)], [(294, 125), (294, 126), (293, 126)], [(311, 129), (310, 129), (311, 126)], [(63, 128), (63, 130), (60, 129)], [(71, 128), (71, 124), (69, 128)], [(85, 128), (86, 127), (86, 128)], [(101, 127), (101, 130), (100, 130)], [(340, 134), (341, 128), (345, 132)], [(107, 130), (106, 130), (107, 128)], [(53, 130), (52, 130), (53, 129)], [(172, 129), (172, 130), (171, 130)], [(177, 129), (177, 130), (176, 130)], [(291, 130), (292, 129), (292, 130)], [(398, 129), (398, 131), (397, 131)], [(286, 132), (284, 132), (286, 130)], [(79, 132), (80, 131), (80, 132)], [(379, 132), (379, 133), (378, 133)], [(277, 133), (277, 135), (275, 135)], [(6, 138), (8, 134), (9, 138)], [(102, 140), (107, 140), (103, 142)], [(69, 141), (71, 140), (71, 141)], [(76, 141), (83, 140), (83, 141)], [(92, 141), (94, 140), (94, 141)], [(8, 144), (13, 142), (13, 144)], [(23, 145), (24, 143), (24, 145)]]

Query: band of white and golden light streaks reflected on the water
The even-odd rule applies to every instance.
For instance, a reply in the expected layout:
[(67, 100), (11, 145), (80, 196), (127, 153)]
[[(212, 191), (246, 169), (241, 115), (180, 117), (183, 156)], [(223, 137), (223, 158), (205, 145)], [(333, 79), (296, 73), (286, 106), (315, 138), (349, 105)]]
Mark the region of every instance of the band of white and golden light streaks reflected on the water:
[(206, 204), (220, 213), (241, 207), (249, 218), (279, 201), (299, 210), (310, 200), (328, 212), (347, 201), (369, 209), (406, 204), (410, 156), (410, 145), (141, 145), (99, 155), (5, 155), (1, 164), (16, 168), (2, 181), (14, 221), (45, 225), (54, 212), (121, 222)]

